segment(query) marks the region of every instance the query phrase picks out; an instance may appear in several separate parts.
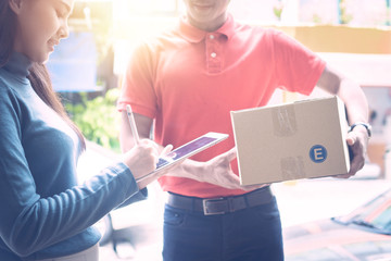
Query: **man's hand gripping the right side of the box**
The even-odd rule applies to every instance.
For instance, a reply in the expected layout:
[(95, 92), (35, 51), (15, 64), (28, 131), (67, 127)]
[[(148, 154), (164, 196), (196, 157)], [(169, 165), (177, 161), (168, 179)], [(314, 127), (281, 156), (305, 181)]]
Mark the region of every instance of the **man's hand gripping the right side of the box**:
[(365, 154), (368, 146), (368, 134), (364, 127), (357, 126), (350, 132), (346, 137), (348, 146), (350, 146), (353, 160), (351, 160), (351, 169), (348, 174), (337, 175), (338, 178), (349, 178), (355, 175), (365, 164)]

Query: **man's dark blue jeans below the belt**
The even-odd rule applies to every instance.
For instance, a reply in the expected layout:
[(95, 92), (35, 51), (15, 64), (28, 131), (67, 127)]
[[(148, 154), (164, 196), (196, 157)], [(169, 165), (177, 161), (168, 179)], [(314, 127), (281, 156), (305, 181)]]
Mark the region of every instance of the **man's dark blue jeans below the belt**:
[(283, 260), (276, 199), (223, 215), (165, 207), (164, 261)]

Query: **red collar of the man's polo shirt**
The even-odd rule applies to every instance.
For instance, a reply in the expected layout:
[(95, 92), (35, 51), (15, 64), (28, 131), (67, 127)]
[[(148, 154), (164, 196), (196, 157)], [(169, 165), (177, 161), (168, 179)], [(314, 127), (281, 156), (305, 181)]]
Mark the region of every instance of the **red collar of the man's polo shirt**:
[(181, 37), (184, 37), (189, 42), (200, 42), (202, 41), (205, 36), (210, 33), (217, 33), (220, 35), (224, 35), (227, 37), (227, 39), (230, 39), (235, 33), (235, 21), (231, 14), (228, 14), (227, 21), (223, 24), (222, 27), (216, 29), (215, 32), (205, 32), (202, 29), (199, 29), (191, 24), (189, 24), (186, 21), (186, 17), (182, 16), (180, 18), (179, 24), (179, 34)]

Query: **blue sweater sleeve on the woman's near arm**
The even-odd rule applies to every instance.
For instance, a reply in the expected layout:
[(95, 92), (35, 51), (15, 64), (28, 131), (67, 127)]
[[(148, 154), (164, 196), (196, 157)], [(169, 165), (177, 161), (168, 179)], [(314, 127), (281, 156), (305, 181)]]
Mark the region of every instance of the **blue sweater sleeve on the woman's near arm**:
[(23, 112), (14, 92), (4, 89), (0, 89), (0, 237), (13, 252), (26, 257), (67, 239), (139, 196), (130, 170), (117, 163), (81, 186), (40, 197), (21, 141)]

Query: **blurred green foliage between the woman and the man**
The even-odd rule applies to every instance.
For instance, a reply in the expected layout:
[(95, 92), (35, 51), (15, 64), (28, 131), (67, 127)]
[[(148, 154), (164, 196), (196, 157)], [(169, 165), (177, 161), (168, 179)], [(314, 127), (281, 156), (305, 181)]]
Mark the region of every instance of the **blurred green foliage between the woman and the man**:
[(80, 103), (64, 103), (71, 119), (80, 128), (86, 139), (116, 152), (119, 152), (121, 113), (115, 108), (118, 97), (119, 90), (114, 88), (92, 100), (89, 100), (87, 94), (84, 92), (80, 94)]

